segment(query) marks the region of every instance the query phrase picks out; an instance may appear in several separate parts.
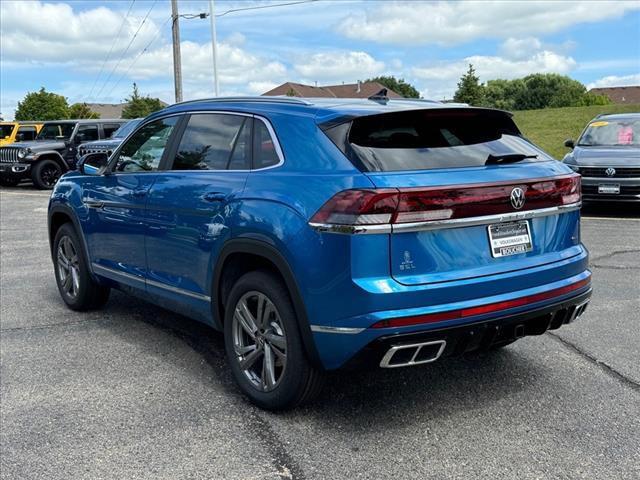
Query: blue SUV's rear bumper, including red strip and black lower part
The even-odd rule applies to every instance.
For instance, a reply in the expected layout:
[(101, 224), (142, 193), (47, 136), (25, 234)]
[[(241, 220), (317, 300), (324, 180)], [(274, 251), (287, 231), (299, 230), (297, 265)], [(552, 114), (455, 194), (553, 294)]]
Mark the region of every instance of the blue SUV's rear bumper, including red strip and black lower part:
[[(420, 308), (378, 311), (345, 320), (340, 325), (312, 325), (311, 330), (322, 365), (327, 370), (380, 365), (389, 348), (400, 344), (444, 340), (446, 345), (441, 353), (450, 356), (489, 348), (520, 336), (542, 334), (549, 328), (572, 321), (576, 311), (571, 308), (581, 306), (591, 296), (590, 280), (591, 272), (582, 270), (562, 280), (509, 293), (478, 295), (471, 300)], [(512, 277), (512, 282), (518, 282), (517, 276)], [(478, 293), (479, 289), (475, 288), (475, 291)], [(452, 312), (461, 314), (446, 315)], [(409, 318), (418, 318), (419, 323), (393, 321)], [(363, 325), (363, 319), (367, 320), (366, 325)], [(438, 347), (429, 348), (438, 350)]]

